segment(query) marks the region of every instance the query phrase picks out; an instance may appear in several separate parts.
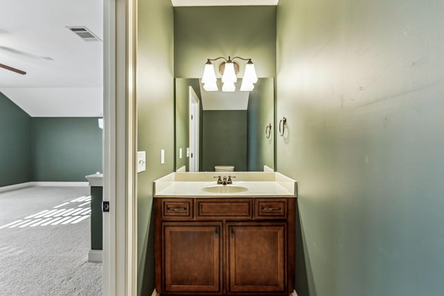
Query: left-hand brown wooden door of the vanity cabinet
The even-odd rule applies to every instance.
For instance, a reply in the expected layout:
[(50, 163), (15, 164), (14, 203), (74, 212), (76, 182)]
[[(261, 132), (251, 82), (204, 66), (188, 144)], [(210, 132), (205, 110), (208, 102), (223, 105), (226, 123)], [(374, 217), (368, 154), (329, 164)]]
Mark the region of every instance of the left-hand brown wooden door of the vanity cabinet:
[(164, 292), (221, 291), (221, 223), (163, 223)]

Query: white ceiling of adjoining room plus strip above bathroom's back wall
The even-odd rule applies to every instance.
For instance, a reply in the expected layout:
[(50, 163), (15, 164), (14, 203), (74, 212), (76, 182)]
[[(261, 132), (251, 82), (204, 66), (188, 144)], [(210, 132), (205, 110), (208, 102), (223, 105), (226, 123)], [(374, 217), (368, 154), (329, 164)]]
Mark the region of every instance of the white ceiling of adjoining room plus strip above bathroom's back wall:
[[(152, 1), (152, 0), (149, 0)], [(278, 0), (171, 0), (173, 6), (277, 5)], [(103, 0), (2, 0), (0, 92), (34, 117), (103, 116)], [(50, 58), (50, 60), (49, 60)]]

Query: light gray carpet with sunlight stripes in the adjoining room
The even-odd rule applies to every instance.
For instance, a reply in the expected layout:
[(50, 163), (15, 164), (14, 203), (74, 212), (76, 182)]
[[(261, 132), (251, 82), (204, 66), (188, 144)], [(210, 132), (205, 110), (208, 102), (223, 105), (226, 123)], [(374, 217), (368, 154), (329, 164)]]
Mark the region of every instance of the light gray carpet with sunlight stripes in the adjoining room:
[(102, 295), (91, 246), (89, 187), (0, 193), (0, 295)]

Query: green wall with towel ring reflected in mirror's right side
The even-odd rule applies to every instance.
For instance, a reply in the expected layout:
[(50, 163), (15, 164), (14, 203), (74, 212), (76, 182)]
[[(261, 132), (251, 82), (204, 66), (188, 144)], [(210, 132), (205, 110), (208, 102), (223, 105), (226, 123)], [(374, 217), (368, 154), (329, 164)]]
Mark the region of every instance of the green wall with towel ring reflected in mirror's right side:
[[(264, 171), (264, 165), (275, 167), (274, 86), (274, 78), (261, 78), (248, 97), (248, 171)], [(267, 139), (266, 126), (270, 123)]]

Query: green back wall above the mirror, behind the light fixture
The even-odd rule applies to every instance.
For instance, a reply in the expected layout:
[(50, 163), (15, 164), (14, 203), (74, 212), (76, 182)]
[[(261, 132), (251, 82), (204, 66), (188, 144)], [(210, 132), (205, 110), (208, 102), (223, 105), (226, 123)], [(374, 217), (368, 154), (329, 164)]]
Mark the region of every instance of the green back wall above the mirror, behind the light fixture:
[(174, 8), (175, 76), (201, 78), (207, 58), (230, 55), (252, 58), (258, 77), (275, 77), (275, 24), (275, 6)]

